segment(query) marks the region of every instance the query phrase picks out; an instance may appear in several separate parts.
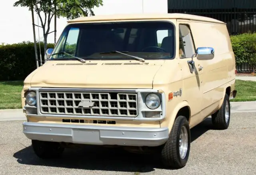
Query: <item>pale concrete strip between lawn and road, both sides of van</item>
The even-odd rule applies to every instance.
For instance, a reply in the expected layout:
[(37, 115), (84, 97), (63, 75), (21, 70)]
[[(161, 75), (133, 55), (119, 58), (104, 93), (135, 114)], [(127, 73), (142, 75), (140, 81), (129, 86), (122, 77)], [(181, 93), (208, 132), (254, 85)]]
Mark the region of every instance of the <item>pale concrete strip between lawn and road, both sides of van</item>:
[[(230, 102), (231, 113), (256, 112), (256, 101)], [(1, 109), (0, 121), (26, 120), (22, 109)]]

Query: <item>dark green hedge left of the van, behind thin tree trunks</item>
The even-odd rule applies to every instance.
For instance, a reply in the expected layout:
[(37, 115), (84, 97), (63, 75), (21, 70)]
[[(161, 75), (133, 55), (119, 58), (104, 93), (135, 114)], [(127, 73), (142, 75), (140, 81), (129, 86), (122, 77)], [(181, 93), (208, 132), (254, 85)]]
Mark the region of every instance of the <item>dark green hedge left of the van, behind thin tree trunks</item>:
[[(44, 59), (44, 44), (40, 43), (42, 60)], [(53, 48), (54, 44), (48, 44)], [(38, 59), (39, 43), (37, 43)], [(40, 65), (40, 61), (39, 61)], [(33, 42), (0, 45), (0, 81), (24, 80), (36, 69), (35, 50)]]

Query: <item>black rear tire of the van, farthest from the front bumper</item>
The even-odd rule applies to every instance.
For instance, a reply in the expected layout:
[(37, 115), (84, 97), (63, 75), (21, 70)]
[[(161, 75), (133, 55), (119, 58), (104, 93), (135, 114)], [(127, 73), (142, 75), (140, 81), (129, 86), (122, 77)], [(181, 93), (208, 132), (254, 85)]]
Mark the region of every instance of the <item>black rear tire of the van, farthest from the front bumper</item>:
[[(227, 108), (226, 108), (226, 105), (227, 105)], [(228, 111), (226, 109), (228, 109)], [(226, 114), (228, 114), (227, 120), (226, 120)], [(228, 94), (225, 94), (224, 101), (220, 109), (214, 114), (212, 114), (212, 124), (216, 129), (228, 129), (229, 123), (230, 123), (230, 101), (229, 101)]]

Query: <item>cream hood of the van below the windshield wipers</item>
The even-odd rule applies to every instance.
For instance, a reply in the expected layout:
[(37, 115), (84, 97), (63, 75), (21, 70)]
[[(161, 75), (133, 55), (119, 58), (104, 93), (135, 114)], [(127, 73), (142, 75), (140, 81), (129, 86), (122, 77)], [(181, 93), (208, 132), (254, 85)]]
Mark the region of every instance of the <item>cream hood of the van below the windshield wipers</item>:
[(152, 88), (164, 60), (48, 61), (25, 80), (31, 87)]

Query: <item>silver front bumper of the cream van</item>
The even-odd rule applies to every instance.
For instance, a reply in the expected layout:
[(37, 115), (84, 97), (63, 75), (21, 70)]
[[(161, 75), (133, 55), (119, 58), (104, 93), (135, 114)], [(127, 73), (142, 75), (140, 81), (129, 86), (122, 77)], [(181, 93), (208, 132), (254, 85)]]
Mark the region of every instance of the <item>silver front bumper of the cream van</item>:
[(88, 145), (159, 146), (169, 136), (168, 128), (114, 127), (24, 122), (28, 139)]

